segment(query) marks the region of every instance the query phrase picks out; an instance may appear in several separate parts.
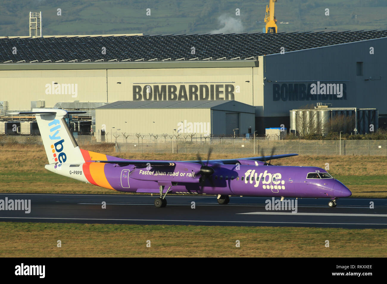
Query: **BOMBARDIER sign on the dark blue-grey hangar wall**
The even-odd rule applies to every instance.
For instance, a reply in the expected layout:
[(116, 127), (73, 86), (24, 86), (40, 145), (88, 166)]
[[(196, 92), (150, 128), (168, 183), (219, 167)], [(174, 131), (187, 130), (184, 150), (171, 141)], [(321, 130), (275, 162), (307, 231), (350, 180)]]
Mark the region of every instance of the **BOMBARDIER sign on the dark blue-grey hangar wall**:
[(346, 84), (273, 84), (273, 100), (346, 100)]

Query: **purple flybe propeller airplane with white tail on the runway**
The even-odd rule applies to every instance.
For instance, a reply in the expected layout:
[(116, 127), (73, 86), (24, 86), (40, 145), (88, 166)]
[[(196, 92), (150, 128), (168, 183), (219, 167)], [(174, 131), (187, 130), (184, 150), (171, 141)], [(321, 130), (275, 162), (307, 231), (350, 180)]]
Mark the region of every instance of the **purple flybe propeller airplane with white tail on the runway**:
[(84, 112), (34, 108), (9, 114), (36, 117), (47, 170), (106, 189), (159, 194), (157, 208), (167, 205), (167, 194), (215, 195), (219, 204), (228, 204), (229, 196), (329, 198), (329, 207), (352, 194), (322, 168), (271, 164), (298, 154), (210, 160), (210, 150), (204, 163), (199, 155), (190, 161), (127, 160), (80, 149), (65, 121), (68, 114), (79, 113)]

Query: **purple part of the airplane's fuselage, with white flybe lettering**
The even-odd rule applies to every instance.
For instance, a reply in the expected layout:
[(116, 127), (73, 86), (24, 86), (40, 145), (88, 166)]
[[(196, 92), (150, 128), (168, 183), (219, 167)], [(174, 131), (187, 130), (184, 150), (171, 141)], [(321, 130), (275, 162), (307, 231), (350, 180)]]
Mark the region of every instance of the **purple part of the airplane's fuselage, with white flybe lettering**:
[(200, 164), (176, 162), (176, 165), (138, 168), (105, 164), (109, 184), (118, 191), (159, 193), (211, 194), (230, 196), (274, 196), (339, 198), (351, 196), (351, 191), (333, 178), (307, 178), (308, 173), (327, 173), (318, 167), (274, 165), (209, 164), (212, 175), (199, 180)]

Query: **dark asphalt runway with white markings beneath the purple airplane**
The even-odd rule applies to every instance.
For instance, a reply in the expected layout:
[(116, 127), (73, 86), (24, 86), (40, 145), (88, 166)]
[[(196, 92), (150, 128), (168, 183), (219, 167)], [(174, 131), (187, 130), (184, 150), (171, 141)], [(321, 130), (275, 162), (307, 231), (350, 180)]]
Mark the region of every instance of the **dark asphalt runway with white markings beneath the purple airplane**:
[(31, 212), (0, 210), (0, 221), (387, 228), (387, 199), (345, 198), (330, 208), (328, 199), (303, 198), (292, 213), (266, 210), (267, 197), (230, 197), (219, 205), (216, 196), (171, 195), (164, 208), (154, 207), (155, 195), (0, 194), (6, 197), (31, 200)]

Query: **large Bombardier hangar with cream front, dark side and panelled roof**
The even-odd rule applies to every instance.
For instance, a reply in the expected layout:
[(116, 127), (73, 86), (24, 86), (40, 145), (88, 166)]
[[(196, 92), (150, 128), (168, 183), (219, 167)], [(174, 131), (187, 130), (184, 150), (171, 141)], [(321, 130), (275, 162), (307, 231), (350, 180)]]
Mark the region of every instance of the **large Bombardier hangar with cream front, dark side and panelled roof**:
[[(98, 124), (96, 107), (119, 101), (129, 111), (138, 102), (230, 100), (255, 112), (237, 134), (291, 131), (289, 111), (318, 102), (377, 108), (380, 126), (387, 116), (387, 31), (2, 37), (0, 50), (2, 115), (66, 105)], [(204, 122), (199, 112), (192, 120)], [(232, 134), (226, 123), (211, 131)]]

